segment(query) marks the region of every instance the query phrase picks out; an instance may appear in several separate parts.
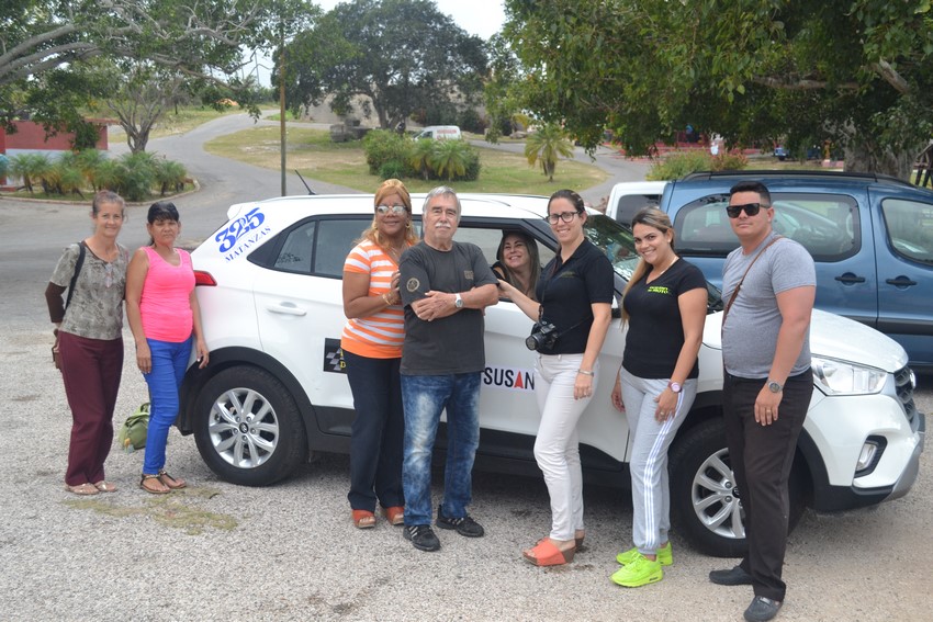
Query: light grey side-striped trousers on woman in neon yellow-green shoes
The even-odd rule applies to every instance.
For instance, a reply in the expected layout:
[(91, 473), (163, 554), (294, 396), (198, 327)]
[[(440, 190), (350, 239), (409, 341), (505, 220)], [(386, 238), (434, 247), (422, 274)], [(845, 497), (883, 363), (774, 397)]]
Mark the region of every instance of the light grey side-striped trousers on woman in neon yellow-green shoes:
[(645, 380), (625, 367), (619, 372), (622, 402), (632, 437), (629, 470), (632, 477), (632, 542), (642, 555), (655, 555), (667, 543), (671, 529), (671, 485), (667, 480), (667, 449), (697, 395), (697, 381), (688, 380), (677, 395), (673, 417), (663, 423), (654, 418), (654, 398), (667, 380)]

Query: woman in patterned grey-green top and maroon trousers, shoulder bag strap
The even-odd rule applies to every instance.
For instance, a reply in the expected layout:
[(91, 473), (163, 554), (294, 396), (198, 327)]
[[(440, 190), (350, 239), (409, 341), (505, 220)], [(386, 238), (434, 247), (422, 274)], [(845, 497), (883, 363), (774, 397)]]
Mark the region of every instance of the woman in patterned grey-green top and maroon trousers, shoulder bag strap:
[[(98, 192), (91, 204), (93, 233), (65, 249), (45, 290), (71, 408), (65, 489), (75, 495), (116, 490), (104, 479), (103, 463), (113, 441), (113, 409), (123, 374), (123, 292), (130, 252), (116, 236), (125, 216), (119, 194)], [(67, 303), (61, 299), (66, 289)]]

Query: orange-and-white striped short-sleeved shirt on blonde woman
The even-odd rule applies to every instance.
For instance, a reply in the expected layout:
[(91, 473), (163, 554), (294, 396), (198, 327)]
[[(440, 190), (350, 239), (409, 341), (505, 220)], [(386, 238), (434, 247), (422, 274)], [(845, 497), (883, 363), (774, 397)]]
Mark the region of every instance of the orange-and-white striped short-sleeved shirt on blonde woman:
[[(392, 274), (398, 270), (389, 255), (378, 245), (363, 240), (353, 247), (344, 262), (344, 272), (369, 274), (370, 296), (389, 293)], [(381, 312), (347, 320), (340, 338), (340, 348), (358, 357), (397, 359), (405, 341), (405, 314), (402, 305), (392, 305)]]

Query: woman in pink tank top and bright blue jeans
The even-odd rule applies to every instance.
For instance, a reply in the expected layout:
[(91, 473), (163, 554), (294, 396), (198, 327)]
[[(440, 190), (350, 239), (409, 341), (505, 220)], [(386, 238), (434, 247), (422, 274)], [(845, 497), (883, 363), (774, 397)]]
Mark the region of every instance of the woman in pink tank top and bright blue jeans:
[(200, 367), (209, 352), (194, 295), (191, 256), (175, 248), (181, 223), (175, 204), (149, 207), (149, 246), (135, 252), (126, 272), (126, 319), (136, 342), (136, 364), (149, 385), (149, 427), (139, 487), (164, 495), (184, 488), (184, 479), (165, 470), (168, 431), (178, 417), (179, 389), (192, 347)]

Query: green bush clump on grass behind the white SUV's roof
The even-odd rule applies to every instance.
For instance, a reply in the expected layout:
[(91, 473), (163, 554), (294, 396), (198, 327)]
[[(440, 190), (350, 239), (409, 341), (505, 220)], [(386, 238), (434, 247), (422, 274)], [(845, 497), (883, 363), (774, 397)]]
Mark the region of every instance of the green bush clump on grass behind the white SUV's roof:
[(465, 140), (412, 140), (375, 129), (363, 138), (363, 150), (369, 172), (381, 179), (475, 181), (480, 177), (480, 152)]

